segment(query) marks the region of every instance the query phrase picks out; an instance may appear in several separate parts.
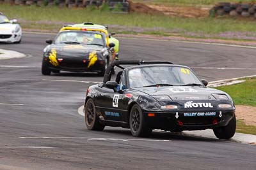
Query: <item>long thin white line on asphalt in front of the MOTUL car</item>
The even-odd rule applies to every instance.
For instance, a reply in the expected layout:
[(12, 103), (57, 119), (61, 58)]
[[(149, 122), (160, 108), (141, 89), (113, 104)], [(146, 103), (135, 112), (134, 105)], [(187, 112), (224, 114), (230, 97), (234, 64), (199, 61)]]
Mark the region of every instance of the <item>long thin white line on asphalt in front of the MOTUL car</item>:
[(24, 137), (22, 139), (87, 139), (91, 141), (171, 141), (160, 139), (129, 139), (129, 138), (88, 138), (88, 137)]

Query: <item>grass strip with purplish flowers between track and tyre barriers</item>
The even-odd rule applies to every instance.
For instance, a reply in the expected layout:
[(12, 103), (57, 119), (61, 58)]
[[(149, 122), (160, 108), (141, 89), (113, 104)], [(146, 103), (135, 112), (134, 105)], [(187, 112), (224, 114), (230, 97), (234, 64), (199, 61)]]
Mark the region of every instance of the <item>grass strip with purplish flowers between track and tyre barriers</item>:
[(94, 8), (58, 8), (53, 6), (11, 6), (0, 4), (9, 18), (17, 18), (24, 29), (57, 32), (63, 24), (94, 22), (107, 24), (117, 33), (178, 34), (193, 38), (256, 40), (255, 20), (232, 18), (182, 18), (138, 13), (111, 13)]

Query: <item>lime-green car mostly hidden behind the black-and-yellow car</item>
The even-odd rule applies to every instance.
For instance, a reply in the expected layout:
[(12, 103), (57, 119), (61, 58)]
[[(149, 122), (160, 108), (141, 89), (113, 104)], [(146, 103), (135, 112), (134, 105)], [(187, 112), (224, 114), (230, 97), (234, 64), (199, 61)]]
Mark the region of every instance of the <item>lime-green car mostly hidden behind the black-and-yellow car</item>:
[[(68, 25), (68, 26), (72, 26), (72, 27), (83, 27), (83, 28), (90, 28), (90, 29), (104, 29), (106, 31), (108, 31), (108, 27), (104, 26), (104, 25), (99, 25), (99, 24), (93, 24), (90, 22), (85, 22), (82, 24), (74, 24), (74, 25)], [(108, 32), (108, 36), (109, 36), (109, 43), (114, 43), (115, 47), (115, 53), (119, 52), (119, 40), (114, 38), (113, 35), (115, 35), (115, 33), (110, 33)]]

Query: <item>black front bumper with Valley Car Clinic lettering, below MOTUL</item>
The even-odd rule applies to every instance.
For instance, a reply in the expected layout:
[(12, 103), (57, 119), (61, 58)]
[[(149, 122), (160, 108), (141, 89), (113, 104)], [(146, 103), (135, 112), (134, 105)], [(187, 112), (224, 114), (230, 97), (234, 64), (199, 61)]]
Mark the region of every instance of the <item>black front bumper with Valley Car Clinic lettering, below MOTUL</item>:
[[(154, 117), (148, 117), (154, 113)], [(152, 129), (165, 131), (194, 131), (223, 127), (234, 117), (235, 111), (193, 111), (186, 112), (148, 112), (144, 111), (147, 125)]]

